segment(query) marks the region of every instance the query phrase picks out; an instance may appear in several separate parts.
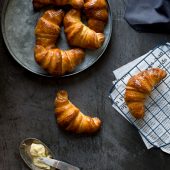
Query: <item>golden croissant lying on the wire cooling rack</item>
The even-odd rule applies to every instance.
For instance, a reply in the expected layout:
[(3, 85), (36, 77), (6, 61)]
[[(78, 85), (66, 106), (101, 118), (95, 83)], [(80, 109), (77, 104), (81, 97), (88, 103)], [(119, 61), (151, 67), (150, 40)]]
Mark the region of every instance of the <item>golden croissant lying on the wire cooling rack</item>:
[(136, 119), (143, 118), (146, 97), (166, 75), (166, 71), (160, 68), (151, 68), (129, 79), (125, 91), (125, 102)]

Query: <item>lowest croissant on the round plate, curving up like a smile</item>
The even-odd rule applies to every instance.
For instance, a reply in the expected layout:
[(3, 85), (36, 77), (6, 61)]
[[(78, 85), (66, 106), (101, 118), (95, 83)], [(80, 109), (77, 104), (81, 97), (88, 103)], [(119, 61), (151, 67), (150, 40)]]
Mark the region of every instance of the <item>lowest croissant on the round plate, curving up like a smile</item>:
[(43, 46), (35, 47), (35, 60), (48, 73), (61, 76), (73, 71), (84, 59), (84, 51), (75, 48), (60, 50), (58, 48), (47, 50)]

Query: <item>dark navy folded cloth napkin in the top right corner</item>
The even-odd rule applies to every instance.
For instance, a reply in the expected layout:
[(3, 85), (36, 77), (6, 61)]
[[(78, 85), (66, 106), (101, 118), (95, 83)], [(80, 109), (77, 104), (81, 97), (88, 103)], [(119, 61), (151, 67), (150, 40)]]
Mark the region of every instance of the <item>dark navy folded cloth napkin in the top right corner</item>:
[(170, 0), (127, 0), (125, 20), (140, 32), (170, 33)]

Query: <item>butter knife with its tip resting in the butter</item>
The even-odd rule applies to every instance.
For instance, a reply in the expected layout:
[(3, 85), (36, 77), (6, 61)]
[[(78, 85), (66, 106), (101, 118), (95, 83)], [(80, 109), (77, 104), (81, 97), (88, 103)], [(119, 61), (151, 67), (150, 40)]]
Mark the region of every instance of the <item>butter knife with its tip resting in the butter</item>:
[(57, 168), (59, 170), (80, 170), (80, 168), (70, 165), (66, 162), (58, 161), (55, 159), (41, 157), (39, 160), (46, 165)]

